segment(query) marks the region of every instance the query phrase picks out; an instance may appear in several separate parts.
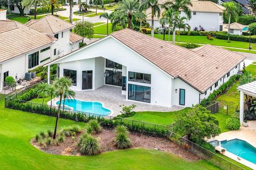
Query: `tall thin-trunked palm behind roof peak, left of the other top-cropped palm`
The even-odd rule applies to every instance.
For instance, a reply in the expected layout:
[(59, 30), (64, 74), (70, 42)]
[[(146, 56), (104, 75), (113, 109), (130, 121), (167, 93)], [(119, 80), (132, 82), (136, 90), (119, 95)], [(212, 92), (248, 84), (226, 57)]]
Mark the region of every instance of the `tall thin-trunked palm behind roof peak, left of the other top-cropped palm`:
[(158, 0), (146, 0), (141, 3), (140, 8), (141, 10), (151, 8), (151, 36), (154, 37), (154, 16), (157, 14), (157, 18), (159, 18), (161, 14), (160, 4)]

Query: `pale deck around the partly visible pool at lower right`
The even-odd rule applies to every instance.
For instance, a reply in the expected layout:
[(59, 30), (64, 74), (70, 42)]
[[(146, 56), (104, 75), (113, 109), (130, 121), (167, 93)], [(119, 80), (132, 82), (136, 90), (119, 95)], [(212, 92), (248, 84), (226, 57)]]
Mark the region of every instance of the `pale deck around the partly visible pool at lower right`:
[[(237, 131), (228, 131), (228, 132), (221, 133), (219, 136), (215, 137), (214, 139), (218, 141), (240, 139), (240, 140), (246, 141), (247, 143), (249, 143), (250, 145), (256, 148), (256, 121), (249, 121), (248, 125), (249, 126), (247, 127), (241, 126)], [(211, 140), (214, 140), (214, 139), (211, 139)], [(215, 147), (215, 149), (220, 151), (222, 147), (220, 146)], [(256, 164), (253, 164), (243, 158), (240, 158), (228, 151), (226, 151), (225, 154), (223, 155), (231, 159), (234, 159), (237, 162), (247, 167), (256, 169)]]

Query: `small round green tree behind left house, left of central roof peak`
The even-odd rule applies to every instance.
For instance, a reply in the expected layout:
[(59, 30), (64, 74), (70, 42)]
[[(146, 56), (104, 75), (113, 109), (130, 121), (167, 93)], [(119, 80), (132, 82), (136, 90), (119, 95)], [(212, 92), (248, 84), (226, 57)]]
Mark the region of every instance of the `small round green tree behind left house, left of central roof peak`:
[(80, 36), (91, 39), (94, 35), (93, 23), (89, 21), (77, 22), (74, 31)]

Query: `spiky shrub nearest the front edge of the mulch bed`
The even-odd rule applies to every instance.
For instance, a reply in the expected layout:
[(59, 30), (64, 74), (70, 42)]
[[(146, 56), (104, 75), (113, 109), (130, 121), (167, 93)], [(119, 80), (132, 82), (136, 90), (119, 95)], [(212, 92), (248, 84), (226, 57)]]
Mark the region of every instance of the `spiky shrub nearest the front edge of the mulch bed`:
[(100, 145), (96, 138), (88, 135), (79, 145), (79, 151), (83, 155), (97, 155), (100, 152)]

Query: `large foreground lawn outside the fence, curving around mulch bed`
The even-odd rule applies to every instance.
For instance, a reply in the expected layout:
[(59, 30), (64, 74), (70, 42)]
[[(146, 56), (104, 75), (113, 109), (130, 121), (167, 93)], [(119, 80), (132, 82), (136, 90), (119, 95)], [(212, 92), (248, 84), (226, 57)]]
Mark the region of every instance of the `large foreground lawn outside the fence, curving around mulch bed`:
[[(54, 117), (3, 108), (0, 103), (1, 169), (219, 169), (209, 162), (186, 162), (167, 152), (146, 149), (110, 151), (98, 156), (59, 156), (39, 151), (29, 141), (54, 128)], [(75, 124), (60, 119), (59, 127)], [(79, 123), (82, 127), (84, 123)]]

